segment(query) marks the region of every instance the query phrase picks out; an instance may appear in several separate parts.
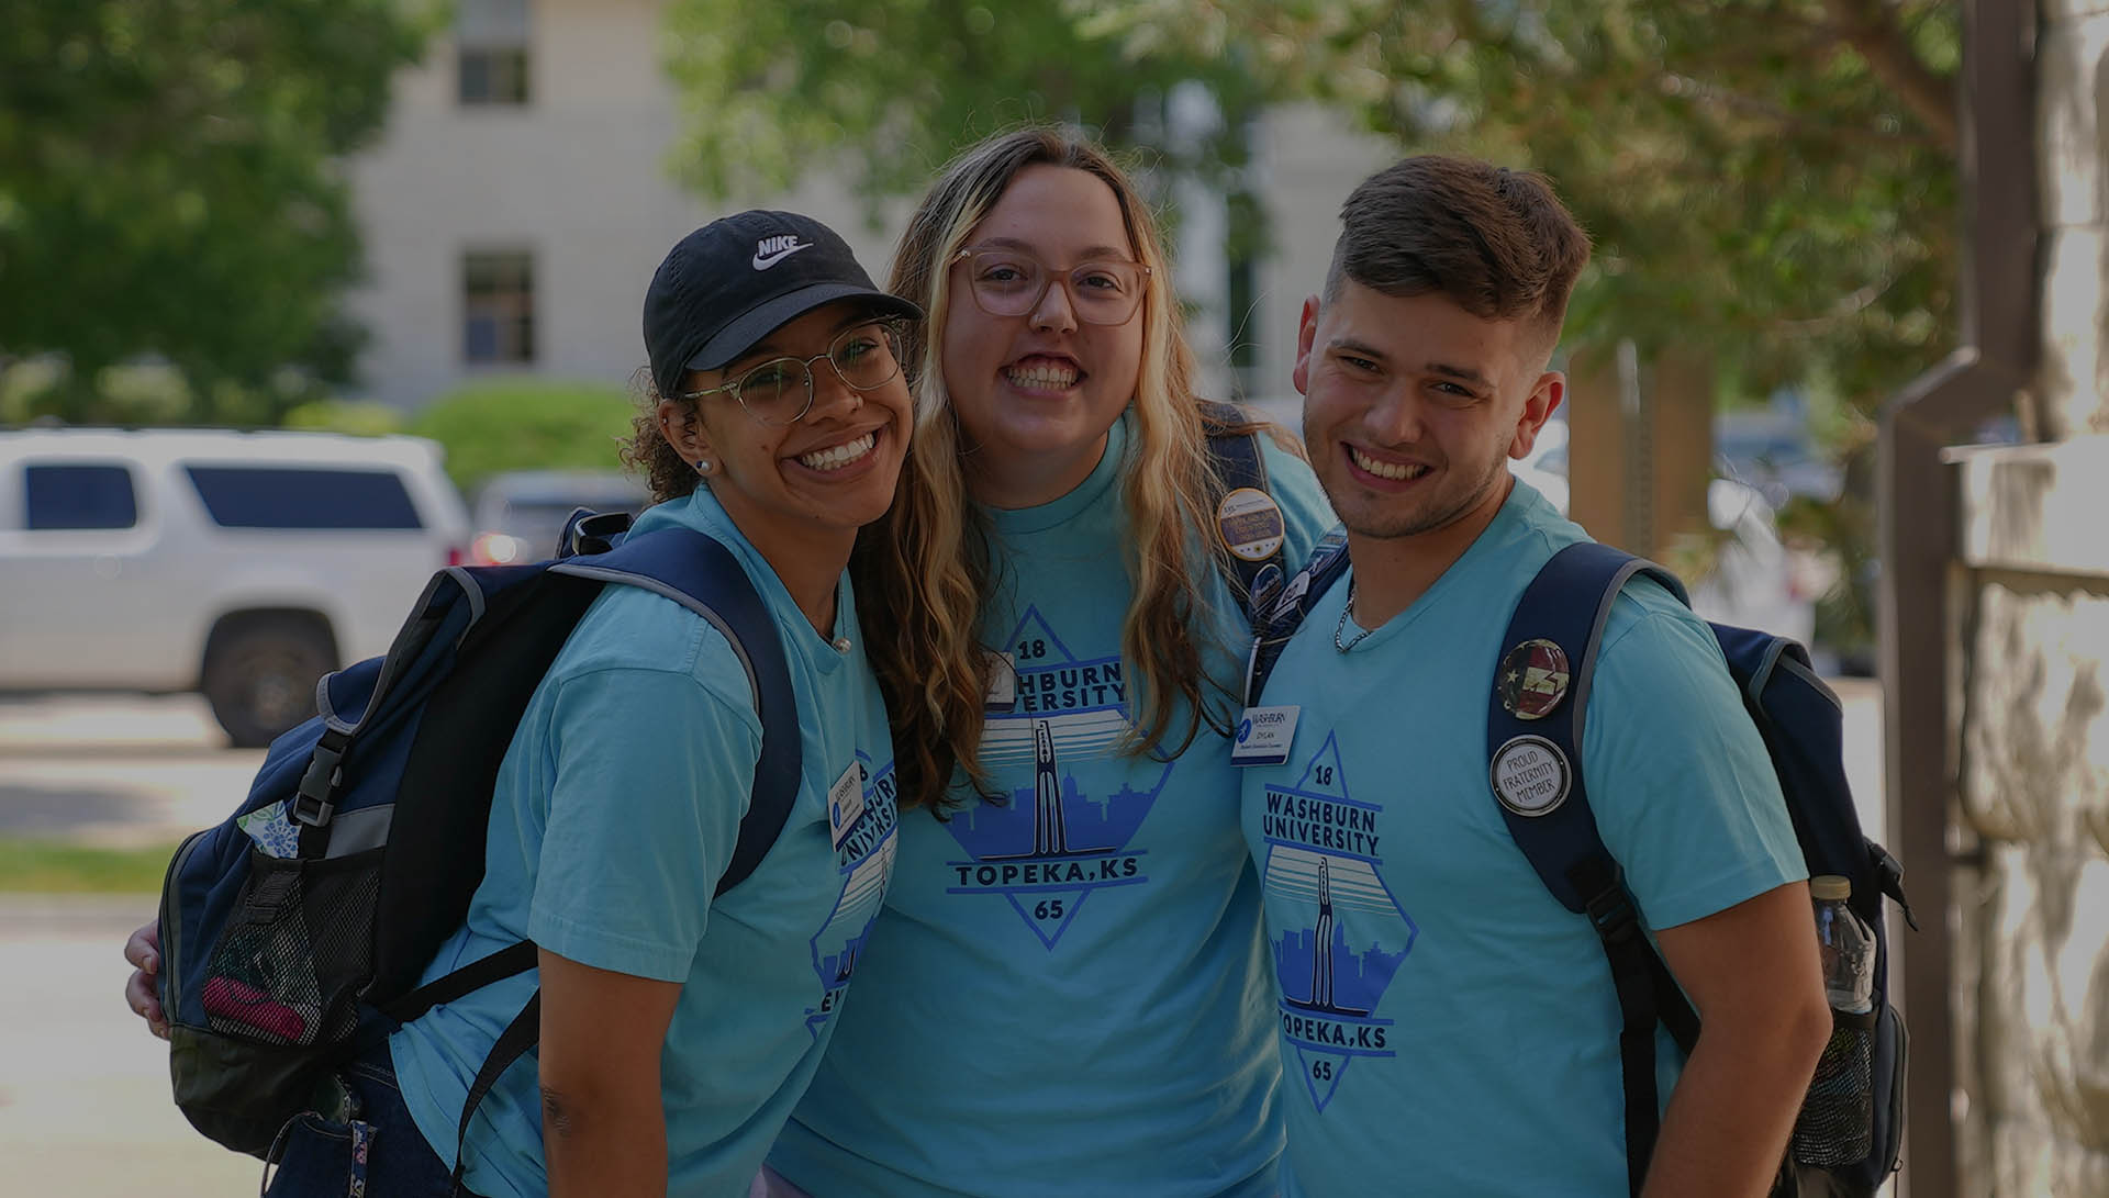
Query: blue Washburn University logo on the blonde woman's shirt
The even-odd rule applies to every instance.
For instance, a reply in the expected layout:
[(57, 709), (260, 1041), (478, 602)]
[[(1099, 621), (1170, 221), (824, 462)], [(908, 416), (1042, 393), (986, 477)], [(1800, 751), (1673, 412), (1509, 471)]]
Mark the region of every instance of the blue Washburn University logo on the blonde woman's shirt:
[[(972, 804), (945, 827), (970, 858), (947, 894), (1002, 894), (1050, 951), (1095, 890), (1141, 886), (1141, 850), (1128, 842), (1164, 791), (1173, 764), (1145, 761), (1149, 789), (1135, 789), (1128, 757), (1114, 745), (1128, 732), (1128, 683), (1120, 656), (1082, 660), (1027, 607), (1006, 652), (1017, 664), (1017, 702), (991, 711), (981, 759), (1002, 776), (1031, 768), (1008, 801)], [(1088, 787), (1099, 787), (1088, 789)]]

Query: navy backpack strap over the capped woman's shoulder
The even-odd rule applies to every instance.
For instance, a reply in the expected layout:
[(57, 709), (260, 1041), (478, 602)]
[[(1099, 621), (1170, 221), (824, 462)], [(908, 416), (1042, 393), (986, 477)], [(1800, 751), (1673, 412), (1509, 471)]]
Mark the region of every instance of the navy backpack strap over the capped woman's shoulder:
[(776, 844), (799, 787), (797, 696), (768, 603), (730, 548), (685, 527), (635, 536), (607, 553), (569, 557), (550, 565), (550, 572), (622, 582), (673, 599), (723, 633), (747, 669), (755, 711), (761, 715), (761, 757), (755, 761), (740, 842), (717, 882), (719, 894), (732, 890)]

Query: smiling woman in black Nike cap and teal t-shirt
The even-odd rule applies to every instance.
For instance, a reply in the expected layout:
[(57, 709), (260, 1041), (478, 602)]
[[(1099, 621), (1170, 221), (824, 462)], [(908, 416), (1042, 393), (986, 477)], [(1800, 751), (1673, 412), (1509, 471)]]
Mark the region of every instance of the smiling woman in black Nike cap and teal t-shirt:
[[(837, 960), (854, 960), (894, 856), (892, 749), (844, 569), (907, 456), (894, 323), (915, 316), (808, 217), (740, 213), (669, 253), (645, 295), (650, 407), (626, 449), (662, 502), (633, 536), (719, 540), (770, 607), (799, 711), (791, 818), (713, 899), (761, 745), (753, 692), (698, 614), (610, 586), (521, 719), (485, 880), (426, 979), (521, 939), (540, 968), (434, 1006), (356, 1061), (350, 1116), (310, 1112), (280, 1133), (272, 1194), (449, 1194), (470, 1082), (538, 983), (540, 1061), (477, 1107), (466, 1190), (747, 1192), (833, 1031)], [(831, 827), (831, 787), (863, 789), (860, 835)]]

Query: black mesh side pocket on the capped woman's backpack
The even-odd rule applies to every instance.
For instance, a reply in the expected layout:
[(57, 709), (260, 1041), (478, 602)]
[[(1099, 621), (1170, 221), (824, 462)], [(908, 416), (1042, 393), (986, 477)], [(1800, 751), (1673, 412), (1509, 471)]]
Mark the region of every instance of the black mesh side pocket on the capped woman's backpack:
[(302, 861), (251, 850), (249, 880), (207, 962), (200, 998), (213, 1031), (283, 1046), (352, 1033), (373, 974), (382, 852)]

